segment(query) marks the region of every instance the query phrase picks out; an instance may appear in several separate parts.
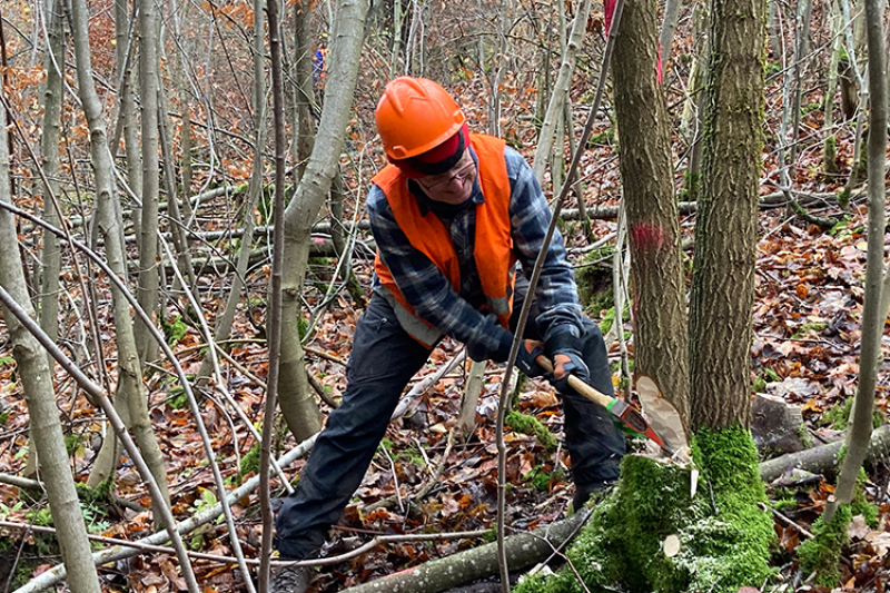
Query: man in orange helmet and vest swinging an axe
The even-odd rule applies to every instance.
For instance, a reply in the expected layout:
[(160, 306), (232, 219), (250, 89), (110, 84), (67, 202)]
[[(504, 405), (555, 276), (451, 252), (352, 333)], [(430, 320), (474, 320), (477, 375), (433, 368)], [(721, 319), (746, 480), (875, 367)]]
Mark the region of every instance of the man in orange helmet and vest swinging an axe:
[[(432, 80), (390, 81), (375, 111), (390, 165), (373, 179), (368, 218), (377, 243), (374, 295), (358, 320), (343, 404), (276, 522), (285, 559), (312, 557), (359, 486), (405, 385), (447, 335), (474, 360), (505, 362), (515, 317), (551, 213), (522, 156), (503, 140), (471, 135), (466, 118)], [(605, 345), (577, 303), (560, 234), (548, 246), (525, 338), (543, 340), (565, 411), (574, 505), (619, 476), (624, 439), (602, 407), (567, 387), (575, 375), (613, 393)], [(513, 315), (515, 314), (515, 316)], [(513, 322), (513, 325), (511, 325)], [(543, 370), (531, 348), (517, 366)], [(273, 591), (301, 591), (305, 570), (278, 571)], [(303, 587), (303, 589), (300, 589)]]

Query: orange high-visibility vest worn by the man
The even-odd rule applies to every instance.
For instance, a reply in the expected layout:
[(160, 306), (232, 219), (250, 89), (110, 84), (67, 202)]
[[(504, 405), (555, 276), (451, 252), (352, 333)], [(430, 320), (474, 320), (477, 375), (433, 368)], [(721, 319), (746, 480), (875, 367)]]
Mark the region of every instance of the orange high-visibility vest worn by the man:
[[(491, 313), (497, 315), (501, 325), (507, 327), (513, 310), (516, 256), (513, 253), (510, 226), (510, 178), (504, 160), (505, 142), (476, 134), (469, 136), (469, 141), (478, 157), (479, 187), (485, 198), (483, 204), (476, 205), (476, 268)], [(428, 257), (448, 278), (455, 291), (459, 293), (459, 261), (448, 229), (442, 220), (433, 213), (427, 213), (426, 216), (421, 214), (417, 198), (412, 195), (407, 178), (397, 167), (388, 165), (374, 176), (372, 182), (383, 190), (396, 223), (412, 246)], [(383, 296), (393, 305), (402, 327), (417, 342), (432, 347), (442, 333), (414, 313), (414, 307), (398, 289), (389, 268), (380, 260), (379, 249), (374, 269), (380, 279)]]

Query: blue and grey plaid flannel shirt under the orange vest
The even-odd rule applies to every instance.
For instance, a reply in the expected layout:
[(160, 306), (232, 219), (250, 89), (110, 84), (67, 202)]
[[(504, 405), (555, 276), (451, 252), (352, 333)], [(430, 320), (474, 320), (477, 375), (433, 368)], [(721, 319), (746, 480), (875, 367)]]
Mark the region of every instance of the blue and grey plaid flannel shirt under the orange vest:
[[(528, 276), (543, 245), (551, 211), (532, 168), (522, 155), (506, 147), (504, 157), (511, 187), (513, 249), (523, 271), (527, 270)], [(473, 158), (478, 160), (475, 151)], [(428, 198), (423, 195), (419, 185), (409, 181), (408, 186), (419, 199), (423, 216), (436, 216), (431, 211)], [(474, 204), (485, 201), (478, 179), (469, 199)], [(429, 258), (411, 245), (398, 227), (386, 196), (377, 186), (372, 186), (368, 194), (367, 210), (380, 259), (392, 271), (396, 285), (417, 316), (433, 324), (443, 334), (475, 347), (476, 350), (503, 352), (504, 333), (492, 332), (491, 318), (486, 319), (485, 314), (476, 310), (467, 300), (473, 298), (466, 293), (478, 288), (478, 274), (473, 256), (475, 208), (463, 208), (454, 216), (449, 226), (446, 223), (461, 263), (462, 294), (454, 290), (447, 277)], [(375, 275), (374, 288), (378, 287), (379, 280)], [(538, 332), (545, 340), (557, 328), (570, 329), (576, 337), (581, 335), (582, 313), (577, 289), (558, 230), (554, 233), (547, 250), (535, 297), (541, 310), (537, 318)]]

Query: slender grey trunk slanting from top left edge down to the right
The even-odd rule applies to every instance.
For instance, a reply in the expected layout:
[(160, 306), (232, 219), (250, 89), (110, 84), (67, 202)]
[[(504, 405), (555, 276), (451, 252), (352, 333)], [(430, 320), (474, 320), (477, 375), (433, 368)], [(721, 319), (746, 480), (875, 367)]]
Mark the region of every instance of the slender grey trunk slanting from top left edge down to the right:
[[(80, 100), (90, 130), (90, 160), (95, 175), (97, 223), (105, 238), (109, 267), (120, 277), (127, 277), (126, 257), (119, 213), (115, 208), (115, 180), (111, 177), (113, 164), (108, 150), (108, 135), (102, 117), (102, 103), (92, 81), (92, 66), (89, 46), (89, 21), (86, 0), (72, 2), (72, 37)], [(115, 315), (115, 329), (118, 347), (118, 386), (115, 405), (126, 406), (131, 415), (132, 429), (139, 448), (151, 468), (169, 505), (167, 491), (167, 470), (164, 465), (158, 442), (151, 431), (148, 405), (144, 394), (142, 370), (132, 334), (130, 305), (116, 287), (111, 288)], [(156, 515), (158, 516), (158, 515)]]

